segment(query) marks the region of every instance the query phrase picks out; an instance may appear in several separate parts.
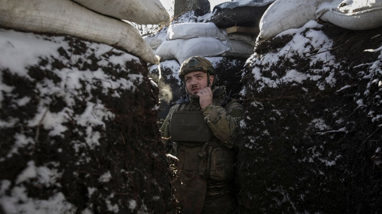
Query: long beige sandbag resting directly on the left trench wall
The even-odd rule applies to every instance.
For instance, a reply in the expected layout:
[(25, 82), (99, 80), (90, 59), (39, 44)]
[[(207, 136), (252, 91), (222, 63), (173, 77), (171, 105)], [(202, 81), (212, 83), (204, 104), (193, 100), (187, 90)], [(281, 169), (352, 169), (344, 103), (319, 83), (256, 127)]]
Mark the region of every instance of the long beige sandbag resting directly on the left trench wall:
[(159, 63), (133, 25), (95, 13), (70, 0), (0, 0), (0, 26), (66, 34), (115, 45), (147, 62)]

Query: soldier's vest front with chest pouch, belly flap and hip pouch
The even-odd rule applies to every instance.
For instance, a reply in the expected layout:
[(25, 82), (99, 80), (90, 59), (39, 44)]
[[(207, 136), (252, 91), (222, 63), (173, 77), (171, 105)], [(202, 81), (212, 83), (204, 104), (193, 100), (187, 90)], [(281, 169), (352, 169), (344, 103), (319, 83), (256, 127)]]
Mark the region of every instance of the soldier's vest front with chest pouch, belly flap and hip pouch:
[(201, 111), (177, 110), (171, 118), (171, 140), (177, 168), (193, 172), (204, 179), (231, 180), (235, 152), (220, 144), (204, 121)]

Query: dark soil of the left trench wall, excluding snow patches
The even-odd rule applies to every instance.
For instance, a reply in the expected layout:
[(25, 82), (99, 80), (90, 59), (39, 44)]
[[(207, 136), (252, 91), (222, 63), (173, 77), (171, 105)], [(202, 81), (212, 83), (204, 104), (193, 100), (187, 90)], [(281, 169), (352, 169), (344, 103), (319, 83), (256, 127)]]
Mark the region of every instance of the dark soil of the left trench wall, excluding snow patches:
[[(9, 69), (0, 70), (3, 83), (14, 87), (10, 94), (4, 95), (0, 118), (3, 121), (12, 118), (19, 121), (13, 127), (0, 128), (0, 180), (11, 181), (9, 190), (2, 197), (11, 196), (11, 190), (21, 185), (26, 187), (28, 197), (34, 200), (46, 200), (54, 193), (62, 192), (66, 201), (76, 207), (75, 213), (78, 214), (85, 209), (95, 214), (114, 213), (108, 208), (106, 199), (110, 199), (111, 204), (118, 205), (116, 213), (173, 213), (172, 181), (165, 160), (165, 147), (160, 141), (157, 127), (158, 112), (154, 110), (155, 105), (159, 105), (159, 89), (147, 77), (146, 62), (126, 61), (123, 66), (112, 63), (99, 65), (97, 62), (101, 59), (119, 56), (121, 52), (110, 50), (102, 56), (95, 56), (88, 46), (91, 43), (69, 36), (65, 40), (69, 41), (72, 50), (60, 48), (57, 51), (66, 59), (72, 56), (69, 63), (52, 59), (52, 56), (46, 56), (46, 59), (42, 57), (39, 64), (28, 68), (31, 79), (14, 75)], [(75, 55), (78, 57), (73, 57)], [(41, 125), (28, 125), (28, 120), (36, 115), (42, 98), (36, 85), (45, 80), (52, 80), (57, 84), (61, 81), (52, 70), (40, 69), (40, 66), (44, 67), (48, 63), (51, 63), (52, 70), (102, 70), (115, 80), (129, 79), (129, 74), (143, 76), (142, 83), (135, 84), (136, 90), (117, 88), (106, 93), (103, 91), (102, 79), (83, 80), (82, 88), (77, 91), (78, 96), (71, 97), (75, 102), (74, 106), (68, 106), (62, 96), (50, 97), (50, 112), (61, 112), (68, 108), (73, 111), (72, 115), (81, 115), (86, 110), (87, 103), (91, 102), (101, 103), (115, 114), (112, 120), (105, 118), (105, 126), (91, 127), (93, 132), (100, 133), (99, 145), (93, 145), (94, 149), (85, 143), (89, 127), (80, 125), (75, 118), (62, 124), (67, 128), (62, 136), (50, 136), (51, 130)], [(89, 85), (92, 86), (91, 94), (85, 93), (85, 88)], [(113, 96), (115, 92), (120, 96)], [(15, 108), (13, 100), (24, 96), (30, 97), (31, 101), (25, 106)], [(86, 99), (87, 97), (92, 98)], [(16, 134), (31, 137), (34, 144), (19, 148), (18, 153), (8, 157), (7, 154), (15, 144)], [(49, 187), (39, 184), (36, 179), (16, 184), (16, 178), (29, 161), (34, 161), (36, 167), (57, 169), (62, 176), (57, 178), (55, 185)], [(112, 178), (109, 182), (101, 182), (100, 176), (108, 171)], [(96, 189), (92, 195), (89, 195), (89, 188)], [(129, 206), (132, 200), (136, 202), (136, 206)], [(19, 203), (22, 204), (23, 201)], [(4, 208), (0, 206), (0, 213), (5, 213), (2, 209)]]

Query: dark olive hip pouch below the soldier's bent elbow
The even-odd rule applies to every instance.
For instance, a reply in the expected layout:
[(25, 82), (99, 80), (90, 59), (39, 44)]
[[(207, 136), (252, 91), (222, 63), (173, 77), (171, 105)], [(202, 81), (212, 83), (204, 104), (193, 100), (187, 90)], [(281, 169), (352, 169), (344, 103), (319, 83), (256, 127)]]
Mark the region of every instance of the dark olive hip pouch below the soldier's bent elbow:
[(235, 151), (227, 149), (219, 142), (208, 142), (203, 145), (199, 166), (199, 175), (205, 179), (217, 181), (232, 180), (235, 174)]

